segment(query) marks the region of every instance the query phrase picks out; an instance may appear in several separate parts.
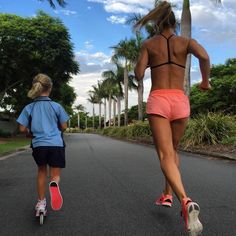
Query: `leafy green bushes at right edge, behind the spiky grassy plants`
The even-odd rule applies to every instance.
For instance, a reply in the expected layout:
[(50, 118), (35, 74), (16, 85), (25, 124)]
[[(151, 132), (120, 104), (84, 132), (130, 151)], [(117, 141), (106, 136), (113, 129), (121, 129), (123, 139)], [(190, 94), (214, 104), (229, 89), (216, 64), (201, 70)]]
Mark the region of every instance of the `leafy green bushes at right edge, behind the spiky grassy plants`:
[(204, 112), (224, 112), (236, 114), (236, 59), (228, 59), (225, 65), (211, 69), (212, 90), (202, 92), (197, 85), (190, 94), (191, 113), (194, 116)]

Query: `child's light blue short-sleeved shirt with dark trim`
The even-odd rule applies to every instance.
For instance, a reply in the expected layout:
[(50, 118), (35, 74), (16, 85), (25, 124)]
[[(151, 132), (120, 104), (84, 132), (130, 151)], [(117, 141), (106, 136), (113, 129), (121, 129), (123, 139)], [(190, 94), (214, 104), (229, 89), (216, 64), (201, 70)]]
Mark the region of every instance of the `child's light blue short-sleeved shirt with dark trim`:
[[(29, 127), (30, 115), (32, 117), (31, 129)], [(53, 102), (49, 97), (38, 97), (22, 110), (17, 122), (33, 133), (32, 147), (63, 147), (58, 123), (65, 123), (68, 119), (69, 116), (60, 104)]]

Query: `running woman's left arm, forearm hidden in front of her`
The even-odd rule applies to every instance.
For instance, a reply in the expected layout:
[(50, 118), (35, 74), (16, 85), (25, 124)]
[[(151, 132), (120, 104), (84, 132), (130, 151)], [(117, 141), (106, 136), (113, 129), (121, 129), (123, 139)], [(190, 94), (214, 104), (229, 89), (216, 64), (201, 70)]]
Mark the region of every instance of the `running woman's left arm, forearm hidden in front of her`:
[(135, 78), (141, 80), (148, 65), (148, 51), (145, 44), (142, 45), (138, 62), (134, 69)]

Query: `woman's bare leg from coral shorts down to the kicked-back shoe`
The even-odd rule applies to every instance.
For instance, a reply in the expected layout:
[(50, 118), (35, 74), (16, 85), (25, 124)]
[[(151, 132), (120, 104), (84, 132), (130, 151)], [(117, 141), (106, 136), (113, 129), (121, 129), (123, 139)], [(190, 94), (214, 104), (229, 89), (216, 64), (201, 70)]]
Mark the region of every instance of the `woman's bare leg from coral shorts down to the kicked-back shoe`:
[(172, 125), (166, 118), (157, 115), (151, 115), (149, 122), (163, 174), (181, 201), (186, 197), (186, 193), (176, 163), (177, 156), (173, 145)]

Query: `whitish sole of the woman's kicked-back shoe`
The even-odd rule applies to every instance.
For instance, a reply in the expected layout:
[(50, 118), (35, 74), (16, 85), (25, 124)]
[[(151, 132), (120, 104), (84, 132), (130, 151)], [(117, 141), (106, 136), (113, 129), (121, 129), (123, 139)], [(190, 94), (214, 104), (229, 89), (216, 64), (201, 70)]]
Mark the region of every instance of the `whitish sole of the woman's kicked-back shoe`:
[(203, 226), (198, 215), (200, 213), (200, 207), (197, 203), (188, 204), (188, 233), (190, 236), (198, 236), (202, 233)]

